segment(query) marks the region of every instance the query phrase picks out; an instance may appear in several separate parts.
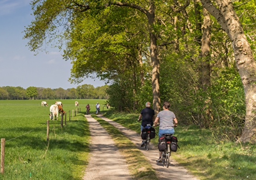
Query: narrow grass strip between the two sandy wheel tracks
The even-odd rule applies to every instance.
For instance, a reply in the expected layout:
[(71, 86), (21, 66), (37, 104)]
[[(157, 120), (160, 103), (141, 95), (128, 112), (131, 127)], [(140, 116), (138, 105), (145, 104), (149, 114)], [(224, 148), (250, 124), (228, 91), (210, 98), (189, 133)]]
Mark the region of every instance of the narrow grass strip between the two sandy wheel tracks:
[(92, 115), (103, 128), (111, 135), (117, 148), (123, 154), (127, 161), (128, 168), (133, 176), (134, 180), (157, 180), (155, 170), (147, 163), (147, 159), (144, 154), (131, 142), (126, 136), (124, 136), (118, 129), (112, 126), (110, 123), (98, 118), (96, 115)]

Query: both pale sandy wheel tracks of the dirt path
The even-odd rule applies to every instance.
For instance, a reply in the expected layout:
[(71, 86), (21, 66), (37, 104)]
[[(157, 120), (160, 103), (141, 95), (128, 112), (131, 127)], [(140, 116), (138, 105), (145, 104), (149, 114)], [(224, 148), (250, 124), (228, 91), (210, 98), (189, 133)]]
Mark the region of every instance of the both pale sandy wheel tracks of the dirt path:
[[(98, 157), (98, 159), (99, 159), (99, 161), (102, 161), (103, 165), (107, 166), (108, 168), (106, 169), (105, 166), (101, 166), (101, 163), (96, 162), (96, 159), (91, 159), (89, 162), (89, 165), (86, 169), (85, 177), (83, 180), (96, 180), (96, 179), (97, 180), (99, 180), (99, 179), (130, 180), (131, 177), (127, 174), (128, 170), (127, 170), (127, 166), (124, 165), (125, 164), (124, 162), (121, 162), (122, 166), (121, 165), (116, 165), (116, 166), (112, 165), (113, 162), (117, 163), (117, 161), (121, 160), (122, 158), (120, 158), (121, 155), (119, 154), (119, 152), (118, 152), (117, 148), (115, 147), (110, 136), (108, 135), (107, 137), (105, 137), (106, 136), (105, 134), (107, 134), (106, 131), (99, 125), (99, 123), (96, 122), (96, 120), (91, 118), (90, 115), (85, 115), (85, 117), (88, 119), (90, 131), (93, 135), (93, 139), (91, 142), (92, 143), (91, 148), (93, 150), (92, 157), (95, 156), (95, 153), (98, 151), (99, 148), (106, 147), (107, 151), (104, 150), (105, 153), (101, 154), (101, 155), (104, 155), (105, 157)], [(136, 132), (131, 131), (130, 129), (127, 129), (127, 128), (123, 127), (122, 125), (120, 125), (108, 118), (105, 118), (101, 115), (99, 115), (99, 118), (102, 118), (105, 121), (107, 121), (108, 123), (111, 123), (114, 127), (119, 129), (126, 137), (128, 137), (136, 146), (138, 146), (138, 149), (140, 149), (141, 152), (145, 155), (145, 157), (148, 158), (149, 163), (155, 169), (160, 180), (198, 180), (196, 177), (190, 175), (184, 167), (180, 166), (176, 161), (172, 160), (171, 158), (170, 158), (169, 168), (166, 168), (162, 163), (158, 163), (157, 162), (157, 159), (158, 159), (157, 147), (153, 146), (153, 144), (150, 144), (149, 151), (145, 150), (144, 147), (140, 147), (141, 138), (140, 138), (139, 134), (137, 134)], [(96, 135), (96, 137), (94, 137), (95, 136), (94, 134), (98, 134), (98, 135)], [(102, 135), (99, 135), (99, 134), (102, 134)], [(106, 139), (104, 138), (104, 141), (102, 139), (103, 137), (106, 138)], [(95, 138), (99, 138), (99, 140), (95, 141), (94, 140)], [(105, 145), (102, 145), (101, 143), (97, 144), (98, 142), (104, 143)], [(100, 147), (97, 147), (97, 146), (100, 146)], [(103, 146), (103, 147), (101, 147), (101, 146)], [(118, 154), (119, 160), (115, 161), (113, 159), (113, 156), (117, 156), (113, 153)], [(101, 158), (104, 158), (104, 159), (101, 159)], [(101, 171), (103, 171), (102, 173), (104, 173), (105, 175), (107, 175), (107, 174), (112, 175), (112, 177), (101, 176), (101, 178), (96, 178), (93, 175), (90, 175), (91, 170), (95, 171), (94, 173), (92, 173), (94, 175), (101, 174)], [(115, 173), (121, 173), (121, 175), (115, 174)]]

